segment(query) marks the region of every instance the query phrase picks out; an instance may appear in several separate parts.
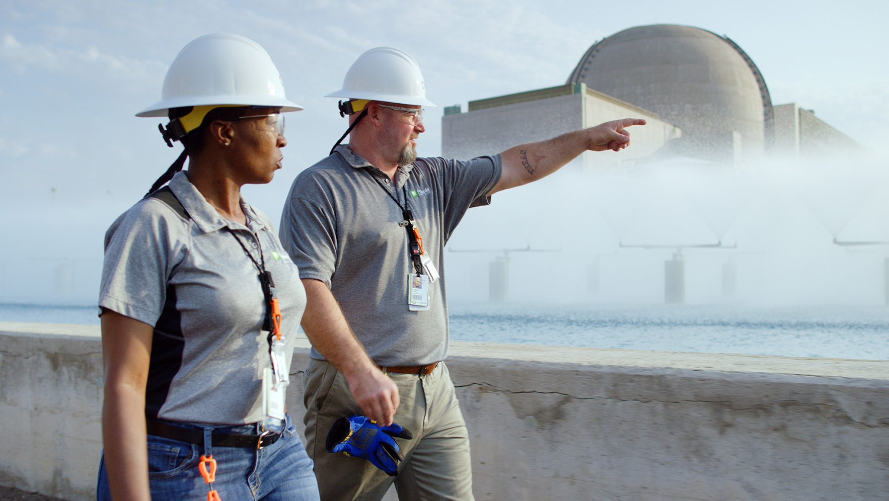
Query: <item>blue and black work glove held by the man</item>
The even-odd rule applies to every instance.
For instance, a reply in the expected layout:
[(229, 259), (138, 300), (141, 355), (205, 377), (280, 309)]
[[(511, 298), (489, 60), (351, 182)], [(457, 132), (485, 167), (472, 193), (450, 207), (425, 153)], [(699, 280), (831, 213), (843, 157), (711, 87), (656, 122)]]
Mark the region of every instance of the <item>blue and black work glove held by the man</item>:
[(398, 474), (398, 444), (392, 437), (412, 439), (411, 432), (401, 425), (377, 425), (364, 416), (339, 418), (333, 422), (324, 448), (327, 452), (343, 452), (346, 456), (364, 457), (388, 475)]

